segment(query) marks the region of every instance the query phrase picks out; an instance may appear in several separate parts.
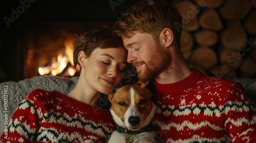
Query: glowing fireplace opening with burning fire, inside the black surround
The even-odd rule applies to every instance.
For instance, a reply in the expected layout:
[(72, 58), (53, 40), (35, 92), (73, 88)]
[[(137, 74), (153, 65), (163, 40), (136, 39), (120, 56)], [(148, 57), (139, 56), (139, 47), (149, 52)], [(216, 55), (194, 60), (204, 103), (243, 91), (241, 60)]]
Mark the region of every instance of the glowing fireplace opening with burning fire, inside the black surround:
[(109, 22), (40, 22), (27, 25), (20, 36), (24, 51), (24, 78), (40, 75), (79, 76), (74, 68), (73, 50), (82, 33)]

